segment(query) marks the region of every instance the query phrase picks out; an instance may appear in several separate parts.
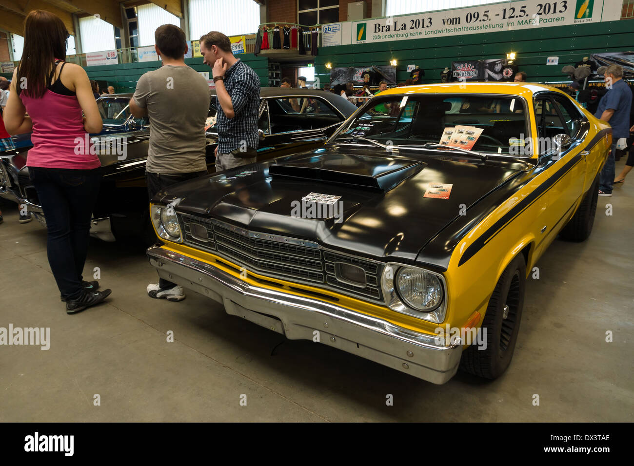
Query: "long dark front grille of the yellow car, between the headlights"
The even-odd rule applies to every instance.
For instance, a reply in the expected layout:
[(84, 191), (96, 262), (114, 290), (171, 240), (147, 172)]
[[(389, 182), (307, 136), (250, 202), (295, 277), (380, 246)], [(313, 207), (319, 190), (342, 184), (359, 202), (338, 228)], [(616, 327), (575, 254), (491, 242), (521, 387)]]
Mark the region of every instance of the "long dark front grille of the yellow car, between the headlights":
[[(186, 245), (217, 252), (219, 256), (265, 276), (309, 285), (320, 284), (337, 292), (382, 302), (379, 282), (383, 266), (378, 262), (325, 250), (310, 241), (244, 230), (216, 219), (188, 214), (179, 214), (179, 217), (183, 222)], [(192, 236), (193, 224), (205, 227), (209, 241), (201, 242)], [(363, 269), (366, 286), (354, 286), (337, 279), (337, 262)]]

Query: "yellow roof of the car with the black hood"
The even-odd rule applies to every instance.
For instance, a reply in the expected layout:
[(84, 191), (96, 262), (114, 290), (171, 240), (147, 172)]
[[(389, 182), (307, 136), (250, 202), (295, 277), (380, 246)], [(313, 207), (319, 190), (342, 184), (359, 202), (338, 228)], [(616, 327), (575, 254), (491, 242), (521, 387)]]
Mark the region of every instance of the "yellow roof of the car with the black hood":
[[(390, 94), (508, 94), (512, 96), (529, 97), (539, 91), (557, 91), (559, 89), (537, 82), (446, 82), (441, 84), (424, 84), (418, 86), (392, 87), (380, 93), (382, 96)], [(563, 93), (565, 94), (565, 93)]]

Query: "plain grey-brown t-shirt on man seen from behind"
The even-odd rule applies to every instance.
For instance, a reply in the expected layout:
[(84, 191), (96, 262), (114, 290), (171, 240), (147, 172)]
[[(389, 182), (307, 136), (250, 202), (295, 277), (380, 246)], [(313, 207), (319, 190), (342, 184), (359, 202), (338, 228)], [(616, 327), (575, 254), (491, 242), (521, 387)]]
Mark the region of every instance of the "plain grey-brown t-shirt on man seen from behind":
[(145, 169), (186, 173), (207, 169), (205, 120), (207, 80), (190, 67), (164, 65), (139, 78), (134, 102), (148, 109), (150, 147)]

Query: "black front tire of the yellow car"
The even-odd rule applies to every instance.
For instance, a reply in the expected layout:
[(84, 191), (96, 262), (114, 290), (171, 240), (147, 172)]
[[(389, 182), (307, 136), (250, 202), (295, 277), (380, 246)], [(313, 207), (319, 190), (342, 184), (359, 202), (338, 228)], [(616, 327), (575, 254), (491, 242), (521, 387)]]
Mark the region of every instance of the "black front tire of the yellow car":
[(489, 299), (481, 327), (481, 332), (486, 328), (486, 349), (470, 345), (462, 353), (460, 369), (484, 379), (497, 379), (507, 370), (519, 333), (525, 289), (526, 263), (520, 253), (508, 264)]

